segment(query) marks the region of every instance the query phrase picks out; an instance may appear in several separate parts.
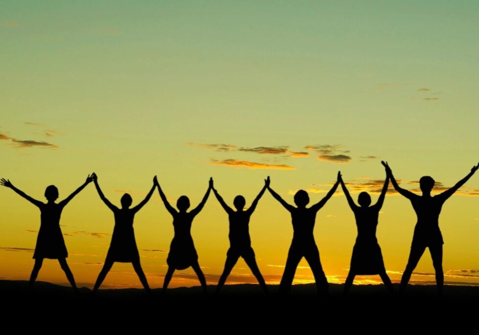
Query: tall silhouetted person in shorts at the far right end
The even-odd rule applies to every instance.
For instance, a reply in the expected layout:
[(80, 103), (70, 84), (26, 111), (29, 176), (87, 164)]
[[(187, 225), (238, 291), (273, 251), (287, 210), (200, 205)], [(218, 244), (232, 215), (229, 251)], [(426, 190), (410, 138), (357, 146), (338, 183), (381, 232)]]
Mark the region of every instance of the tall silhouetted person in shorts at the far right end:
[(411, 244), (411, 252), (409, 254), (408, 265), (401, 278), (401, 285), (399, 286), (399, 293), (404, 292), (408, 284), (411, 274), (413, 273), (422, 254), (429, 248), (431, 258), (433, 259), (433, 266), (435, 270), (437, 293), (442, 296), (444, 286), (444, 272), (442, 271), (442, 239), (441, 231), (439, 230), (439, 214), (441, 212), (442, 204), (457, 191), (471, 176), (477, 171), (479, 164), (472, 167), (471, 172), (463, 179), (459, 180), (452, 188), (444, 192), (431, 196), (431, 190), (434, 187), (434, 179), (430, 176), (424, 176), (419, 179), (419, 186), (422, 191), (422, 196), (414, 194), (397, 185), (392, 170), (388, 163), (381, 161), (386, 167), (386, 171), (390, 175), (392, 186), (401, 195), (405, 196), (411, 201), (414, 211), (417, 215), (417, 223), (414, 227), (413, 243)]

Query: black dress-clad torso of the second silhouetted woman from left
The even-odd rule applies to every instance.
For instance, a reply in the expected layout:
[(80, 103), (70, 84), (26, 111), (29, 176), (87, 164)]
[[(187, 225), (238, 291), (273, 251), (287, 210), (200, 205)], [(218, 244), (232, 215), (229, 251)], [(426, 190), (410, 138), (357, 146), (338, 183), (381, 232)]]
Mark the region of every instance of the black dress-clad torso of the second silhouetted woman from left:
[(113, 214), (115, 227), (107, 258), (115, 262), (132, 262), (139, 259), (133, 230), (135, 212), (132, 209), (115, 209)]

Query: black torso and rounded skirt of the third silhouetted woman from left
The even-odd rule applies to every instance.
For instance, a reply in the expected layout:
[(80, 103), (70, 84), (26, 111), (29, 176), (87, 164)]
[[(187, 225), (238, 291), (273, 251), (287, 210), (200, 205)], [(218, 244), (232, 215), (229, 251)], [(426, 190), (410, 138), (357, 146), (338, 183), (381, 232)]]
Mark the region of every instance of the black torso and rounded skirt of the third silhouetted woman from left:
[(191, 225), (194, 218), (195, 215), (191, 212), (178, 212), (174, 214), (174, 237), (166, 260), (168, 266), (174, 269), (186, 269), (198, 259), (193, 237), (191, 236)]

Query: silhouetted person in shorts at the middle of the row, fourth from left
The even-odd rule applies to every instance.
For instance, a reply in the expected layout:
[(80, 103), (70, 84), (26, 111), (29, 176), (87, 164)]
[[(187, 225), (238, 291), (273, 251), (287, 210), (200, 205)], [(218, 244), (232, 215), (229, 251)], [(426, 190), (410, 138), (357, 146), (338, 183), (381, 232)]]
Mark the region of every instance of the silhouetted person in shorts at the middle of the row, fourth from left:
[(216, 287), (217, 293), (219, 293), (219, 290), (221, 290), (223, 287), (226, 278), (230, 274), (231, 270), (233, 270), (233, 267), (235, 266), (236, 262), (238, 262), (240, 257), (243, 257), (244, 261), (251, 269), (251, 272), (253, 272), (256, 279), (258, 279), (258, 282), (260, 283), (264, 293), (268, 293), (266, 283), (264, 282), (260, 269), (258, 269), (258, 264), (256, 264), (255, 251), (253, 251), (253, 248), (251, 248), (251, 239), (249, 237), (249, 218), (255, 211), (258, 201), (260, 201), (261, 196), (268, 186), (269, 177), (264, 180), (264, 187), (261, 188), (260, 193), (256, 196), (255, 200), (253, 200), (251, 207), (246, 210), (243, 210), (246, 200), (242, 195), (237, 195), (233, 201), (233, 205), (235, 205), (236, 208), (235, 211), (226, 205), (223, 198), (218, 194), (218, 191), (213, 187), (212, 184), (213, 192), (215, 193), (216, 198), (223, 209), (228, 213), (228, 219), (230, 222), (230, 233), (228, 234), (230, 239), (230, 249), (228, 249), (228, 252), (226, 253), (224, 270), (219, 278), (218, 286)]

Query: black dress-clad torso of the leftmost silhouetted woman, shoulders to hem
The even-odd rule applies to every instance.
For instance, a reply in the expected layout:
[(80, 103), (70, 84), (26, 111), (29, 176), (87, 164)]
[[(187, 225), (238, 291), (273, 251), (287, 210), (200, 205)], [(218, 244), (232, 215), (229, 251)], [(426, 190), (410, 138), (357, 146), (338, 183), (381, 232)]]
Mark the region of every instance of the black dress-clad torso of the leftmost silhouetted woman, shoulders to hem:
[(64, 206), (47, 203), (40, 206), (40, 230), (33, 258), (65, 258), (68, 256), (60, 229), (60, 216)]

